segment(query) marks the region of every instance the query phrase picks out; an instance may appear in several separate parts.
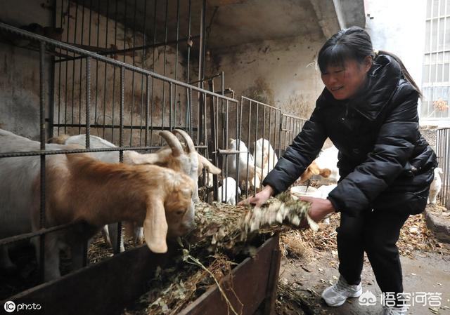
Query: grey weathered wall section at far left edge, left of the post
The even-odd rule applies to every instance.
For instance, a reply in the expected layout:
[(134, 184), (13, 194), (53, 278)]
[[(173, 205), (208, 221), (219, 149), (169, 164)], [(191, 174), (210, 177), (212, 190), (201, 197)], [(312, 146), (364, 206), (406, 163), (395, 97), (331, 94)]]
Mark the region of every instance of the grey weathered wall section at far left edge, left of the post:
[[(0, 0), (0, 20), (11, 25), (51, 25), (51, 11), (39, 0)], [(0, 42), (0, 128), (39, 139), (39, 53)], [(50, 77), (46, 58), (46, 80)], [(46, 82), (49, 86), (49, 81)], [(46, 89), (49, 93), (49, 88)], [(49, 100), (49, 95), (46, 95)], [(48, 108), (47, 108), (48, 109)], [(48, 113), (48, 110), (46, 111)]]

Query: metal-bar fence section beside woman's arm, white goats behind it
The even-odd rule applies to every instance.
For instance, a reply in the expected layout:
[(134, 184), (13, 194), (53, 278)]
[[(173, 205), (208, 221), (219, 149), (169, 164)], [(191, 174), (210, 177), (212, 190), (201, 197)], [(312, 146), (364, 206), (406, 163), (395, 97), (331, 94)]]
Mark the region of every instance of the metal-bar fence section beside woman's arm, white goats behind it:
[[(235, 202), (238, 202), (240, 195), (245, 198), (262, 187), (266, 173), (300, 133), (305, 120), (245, 96), (240, 97), (236, 108), (222, 112), (222, 118), (224, 122), (220, 123), (219, 116), (216, 117), (219, 138), (214, 159), (223, 170), (223, 178), (236, 180)], [(229, 191), (227, 185), (225, 182), (221, 186), (222, 197)], [(238, 194), (238, 187), (243, 189), (242, 194)], [(221, 201), (225, 202), (223, 198)]]

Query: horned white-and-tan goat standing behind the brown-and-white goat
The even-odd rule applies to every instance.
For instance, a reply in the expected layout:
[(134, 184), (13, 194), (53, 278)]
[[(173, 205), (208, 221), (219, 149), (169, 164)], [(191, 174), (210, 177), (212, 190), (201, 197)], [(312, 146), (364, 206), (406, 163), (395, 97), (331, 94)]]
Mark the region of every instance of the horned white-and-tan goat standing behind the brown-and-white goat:
[[(124, 151), (124, 163), (134, 164), (155, 164), (173, 170), (181, 171), (191, 177), (195, 182), (195, 191), (193, 194), (193, 201), (198, 199), (198, 176), (202, 173), (203, 168), (206, 168), (210, 174), (219, 174), (220, 169), (215, 167), (204, 156), (195, 151), (195, 147), (191, 137), (184, 130), (175, 129), (174, 133), (178, 133), (184, 138), (186, 147), (183, 148), (179, 140), (169, 131), (164, 130), (160, 133), (169, 145), (162, 147), (158, 152), (150, 154), (140, 154), (135, 151)], [(63, 135), (56, 138), (54, 141), (62, 145), (80, 145), (86, 144), (86, 135)], [(89, 138), (91, 148), (116, 147), (113, 143), (108, 142), (102, 138), (91, 135)], [(119, 152), (94, 152), (91, 153), (95, 159), (108, 163), (119, 163)], [(212, 181), (211, 181), (212, 182)], [(143, 242), (142, 227), (137, 227), (130, 224), (125, 224), (125, 231), (127, 235), (133, 236), (134, 243), (140, 244)], [(103, 238), (109, 246), (112, 246), (117, 251), (117, 224), (110, 224), (108, 227), (102, 229)], [(120, 239), (120, 252), (124, 251), (123, 237)]]

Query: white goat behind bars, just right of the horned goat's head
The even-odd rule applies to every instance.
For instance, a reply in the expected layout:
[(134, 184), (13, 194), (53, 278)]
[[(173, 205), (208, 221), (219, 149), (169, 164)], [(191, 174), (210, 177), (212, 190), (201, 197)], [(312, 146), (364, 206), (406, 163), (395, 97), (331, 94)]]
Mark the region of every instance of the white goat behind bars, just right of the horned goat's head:
[[(247, 146), (243, 141), (230, 139), (229, 149), (221, 150), (221, 152), (230, 152), (227, 158), (228, 166), (228, 176), (233, 177), (236, 180), (236, 167), (239, 168), (238, 173), (238, 183), (247, 180), (248, 172), (248, 183), (247, 187), (260, 187), (262, 170), (258, 166), (255, 167), (255, 160), (252, 154), (247, 149)], [(238, 154), (233, 154), (232, 152), (239, 152)], [(238, 156), (238, 160), (236, 159)], [(238, 162), (237, 162), (238, 161)]]

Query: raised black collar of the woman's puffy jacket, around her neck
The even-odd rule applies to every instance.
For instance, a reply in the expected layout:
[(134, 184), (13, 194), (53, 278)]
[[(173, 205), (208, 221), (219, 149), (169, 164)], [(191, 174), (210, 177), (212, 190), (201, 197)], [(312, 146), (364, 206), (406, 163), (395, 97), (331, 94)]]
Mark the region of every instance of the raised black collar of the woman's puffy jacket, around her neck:
[(321, 98), (328, 105), (348, 104), (367, 119), (374, 121), (383, 110), (403, 76), (399, 63), (389, 55), (375, 58), (364, 86), (351, 100), (335, 100), (324, 88)]

